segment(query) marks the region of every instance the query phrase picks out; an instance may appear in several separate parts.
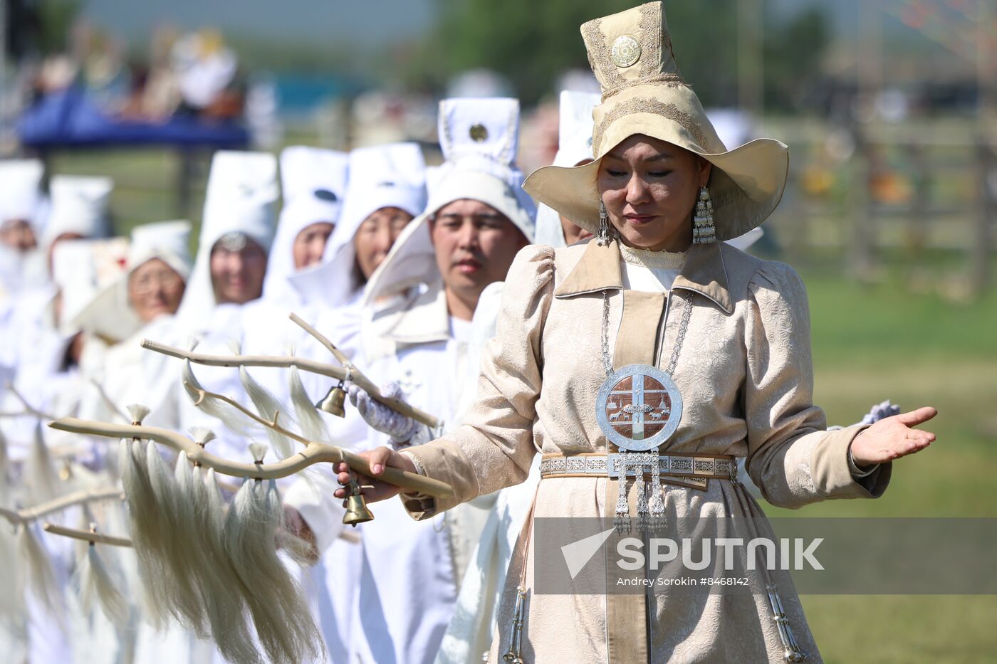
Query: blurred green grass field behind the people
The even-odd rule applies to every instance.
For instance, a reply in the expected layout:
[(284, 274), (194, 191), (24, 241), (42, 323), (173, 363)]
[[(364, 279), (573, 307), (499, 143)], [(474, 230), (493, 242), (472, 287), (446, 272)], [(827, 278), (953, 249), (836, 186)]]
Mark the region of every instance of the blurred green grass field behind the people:
[[(186, 210), (173, 190), (178, 161), (166, 152), (81, 153), (56, 171), (110, 174), (116, 227), (176, 216), (199, 219), (206, 163)], [(778, 231), (778, 228), (776, 229)], [(816, 403), (832, 424), (855, 422), (889, 398), (938, 408), (938, 440), (897, 462), (877, 500), (840, 500), (779, 515), (997, 516), (997, 293), (954, 302), (934, 293), (964, 254), (885, 255), (884, 279), (842, 276), (839, 256), (798, 266), (811, 296)], [(937, 288), (925, 287), (936, 283)], [(883, 564), (889, 564), (883, 560)], [(997, 596), (805, 596), (829, 662), (981, 662), (997, 656)]]

